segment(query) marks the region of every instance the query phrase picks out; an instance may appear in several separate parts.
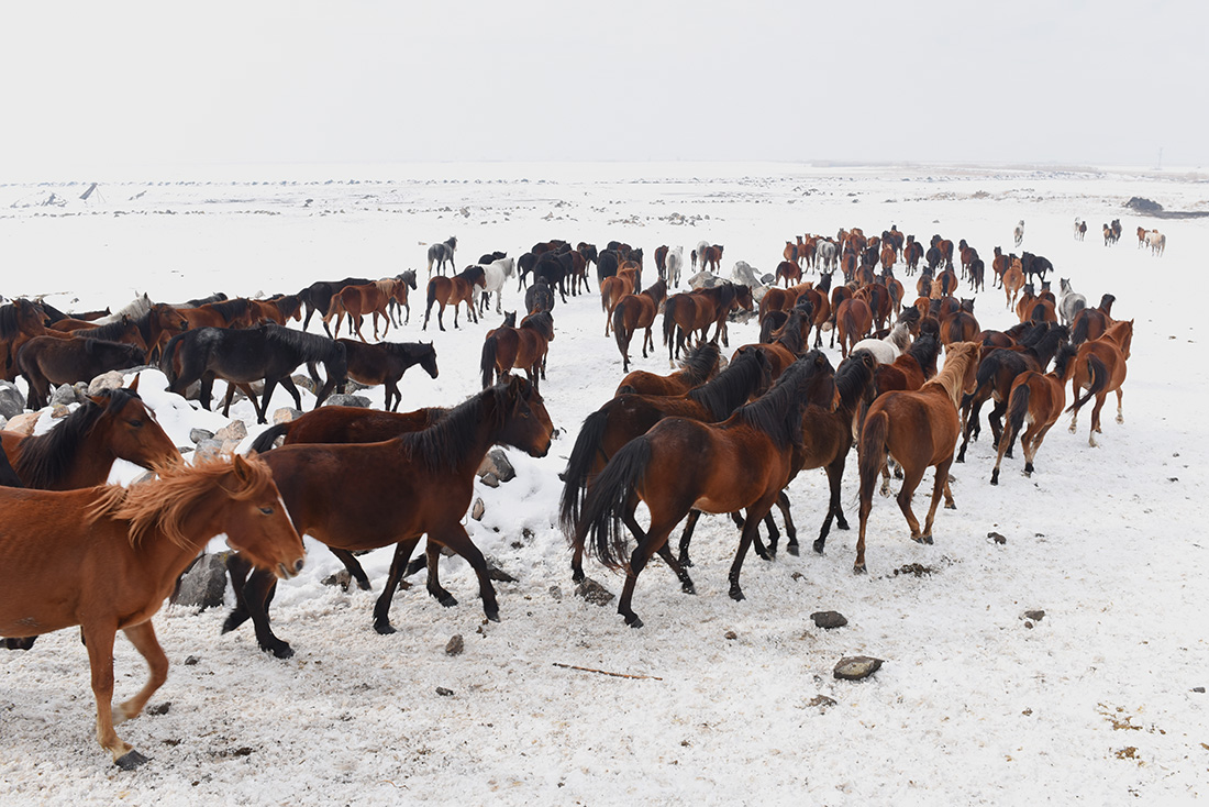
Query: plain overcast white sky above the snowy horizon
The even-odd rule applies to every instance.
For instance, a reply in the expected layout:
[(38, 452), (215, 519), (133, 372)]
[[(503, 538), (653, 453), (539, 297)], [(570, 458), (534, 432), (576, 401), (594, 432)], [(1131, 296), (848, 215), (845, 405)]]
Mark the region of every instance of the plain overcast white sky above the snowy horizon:
[[(826, 8), (820, 6), (826, 5)], [(0, 181), (127, 165), (1209, 165), (1209, 4), (25, 2)]]

